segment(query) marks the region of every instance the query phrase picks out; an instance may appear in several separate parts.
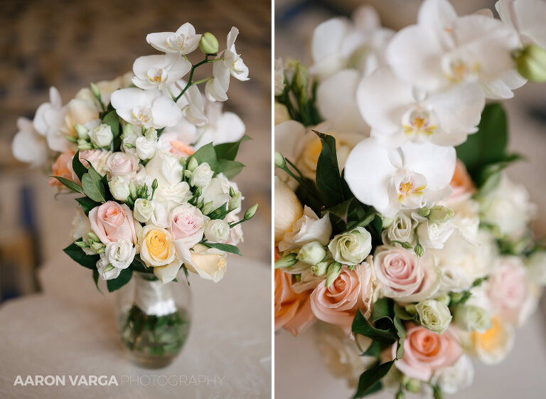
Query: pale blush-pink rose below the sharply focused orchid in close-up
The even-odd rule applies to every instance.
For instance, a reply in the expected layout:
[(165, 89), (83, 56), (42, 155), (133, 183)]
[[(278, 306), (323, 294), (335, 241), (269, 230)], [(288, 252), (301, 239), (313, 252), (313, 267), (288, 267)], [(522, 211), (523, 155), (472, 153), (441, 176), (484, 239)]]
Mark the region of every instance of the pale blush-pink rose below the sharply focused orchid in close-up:
[(373, 255), (373, 267), (382, 294), (397, 302), (419, 302), (439, 289), (439, 273), (427, 255), (381, 246)]

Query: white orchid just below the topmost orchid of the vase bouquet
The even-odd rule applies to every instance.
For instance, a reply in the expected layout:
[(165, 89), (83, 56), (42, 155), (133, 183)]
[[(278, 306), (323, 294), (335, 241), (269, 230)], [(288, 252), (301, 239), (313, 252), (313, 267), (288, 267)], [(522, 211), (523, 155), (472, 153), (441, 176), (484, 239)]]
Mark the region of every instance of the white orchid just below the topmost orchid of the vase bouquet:
[(146, 55), (134, 61), (132, 82), (141, 89), (164, 90), (190, 70), (191, 63), (179, 54)]

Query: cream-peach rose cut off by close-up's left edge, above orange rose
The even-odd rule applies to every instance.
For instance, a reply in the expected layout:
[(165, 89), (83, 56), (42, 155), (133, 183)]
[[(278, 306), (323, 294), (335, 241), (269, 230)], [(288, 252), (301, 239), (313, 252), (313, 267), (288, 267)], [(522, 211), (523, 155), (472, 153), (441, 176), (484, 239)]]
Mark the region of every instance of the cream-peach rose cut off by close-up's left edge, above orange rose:
[(275, 243), (282, 240), (303, 213), (304, 208), (294, 191), (275, 176)]

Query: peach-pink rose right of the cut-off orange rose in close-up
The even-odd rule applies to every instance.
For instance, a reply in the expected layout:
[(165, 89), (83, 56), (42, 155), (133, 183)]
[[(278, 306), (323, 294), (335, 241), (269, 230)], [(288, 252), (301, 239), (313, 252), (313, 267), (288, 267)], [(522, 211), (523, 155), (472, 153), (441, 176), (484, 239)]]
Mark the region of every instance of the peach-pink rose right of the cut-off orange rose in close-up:
[(338, 278), (326, 287), (323, 282), (311, 293), (311, 310), (317, 319), (341, 326), (347, 335), (358, 309), (366, 317), (371, 312), (373, 296), (373, 270), (368, 262), (362, 262), (349, 270), (343, 267)]

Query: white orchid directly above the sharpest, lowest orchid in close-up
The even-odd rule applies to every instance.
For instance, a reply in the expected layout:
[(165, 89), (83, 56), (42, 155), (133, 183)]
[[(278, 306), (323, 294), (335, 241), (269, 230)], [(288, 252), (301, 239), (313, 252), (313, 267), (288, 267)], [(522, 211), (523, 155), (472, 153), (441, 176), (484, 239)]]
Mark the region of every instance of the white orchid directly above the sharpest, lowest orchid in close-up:
[(473, 83), (427, 95), (398, 79), (388, 67), (364, 78), (356, 98), (371, 135), (391, 147), (408, 141), (461, 144), (476, 132), (485, 105), (483, 92)]

